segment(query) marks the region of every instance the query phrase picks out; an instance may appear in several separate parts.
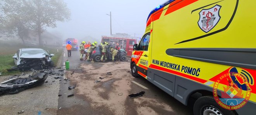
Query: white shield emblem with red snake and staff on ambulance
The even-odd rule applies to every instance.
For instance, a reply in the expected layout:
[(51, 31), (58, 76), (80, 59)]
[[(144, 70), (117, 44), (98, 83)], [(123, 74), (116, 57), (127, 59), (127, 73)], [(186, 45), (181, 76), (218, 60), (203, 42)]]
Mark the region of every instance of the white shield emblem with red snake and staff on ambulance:
[(202, 9), (199, 12), (198, 26), (202, 31), (208, 33), (213, 29), (220, 21), (220, 5), (215, 5), (210, 9)]

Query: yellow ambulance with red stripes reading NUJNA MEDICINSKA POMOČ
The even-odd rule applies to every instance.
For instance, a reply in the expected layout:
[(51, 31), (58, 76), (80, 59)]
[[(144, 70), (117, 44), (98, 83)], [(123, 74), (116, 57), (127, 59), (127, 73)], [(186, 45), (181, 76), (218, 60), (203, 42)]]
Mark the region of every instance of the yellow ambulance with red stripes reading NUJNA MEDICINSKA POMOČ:
[[(256, 114), (256, 1), (168, 0), (152, 10), (131, 72), (194, 115)], [(194, 97), (193, 97), (194, 98)]]

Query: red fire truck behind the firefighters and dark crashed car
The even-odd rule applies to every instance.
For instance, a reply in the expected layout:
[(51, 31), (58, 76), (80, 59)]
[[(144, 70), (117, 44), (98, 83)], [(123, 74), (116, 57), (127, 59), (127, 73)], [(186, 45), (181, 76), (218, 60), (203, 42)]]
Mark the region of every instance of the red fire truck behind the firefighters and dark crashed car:
[(136, 44), (136, 38), (117, 37), (117, 36), (102, 36), (101, 43), (107, 42), (110, 46), (116, 46), (118, 43), (120, 48), (127, 51), (127, 56), (131, 56), (133, 45)]

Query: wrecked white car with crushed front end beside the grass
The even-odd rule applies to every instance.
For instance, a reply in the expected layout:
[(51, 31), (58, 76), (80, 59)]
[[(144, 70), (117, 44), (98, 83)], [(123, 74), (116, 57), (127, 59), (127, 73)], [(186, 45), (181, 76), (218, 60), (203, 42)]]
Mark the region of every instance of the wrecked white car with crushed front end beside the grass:
[(14, 54), (14, 63), (17, 67), (13, 67), (11, 70), (21, 70), (26, 71), (31, 68), (35, 70), (45, 69), (47, 67), (53, 67), (54, 62), (52, 62), (51, 57), (54, 54), (49, 54), (45, 50), (40, 48), (21, 48)]

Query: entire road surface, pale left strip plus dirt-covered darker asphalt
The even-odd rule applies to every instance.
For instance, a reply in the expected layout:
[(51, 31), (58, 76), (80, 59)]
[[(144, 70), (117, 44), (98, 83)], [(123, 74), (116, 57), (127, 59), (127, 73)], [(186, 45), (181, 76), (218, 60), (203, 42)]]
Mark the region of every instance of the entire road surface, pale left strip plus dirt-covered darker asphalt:
[[(193, 114), (192, 106), (183, 105), (143, 77), (131, 76), (129, 58), (118, 63), (85, 62), (79, 58), (79, 51), (72, 51), (71, 57), (67, 57), (64, 50), (61, 65), (69, 60), (70, 69), (64, 71), (61, 79), (48, 76), (48, 82), (42, 86), (0, 96), (0, 115), (17, 115), (20, 110), (24, 110), (21, 115)], [(58, 70), (61, 69), (55, 71)], [(107, 72), (112, 75), (106, 75)], [(6, 79), (7, 76), (0, 77), (0, 82)], [(68, 89), (75, 84), (76, 88)], [(128, 96), (141, 91), (145, 91), (143, 96)], [(74, 96), (67, 97), (70, 94)]]

